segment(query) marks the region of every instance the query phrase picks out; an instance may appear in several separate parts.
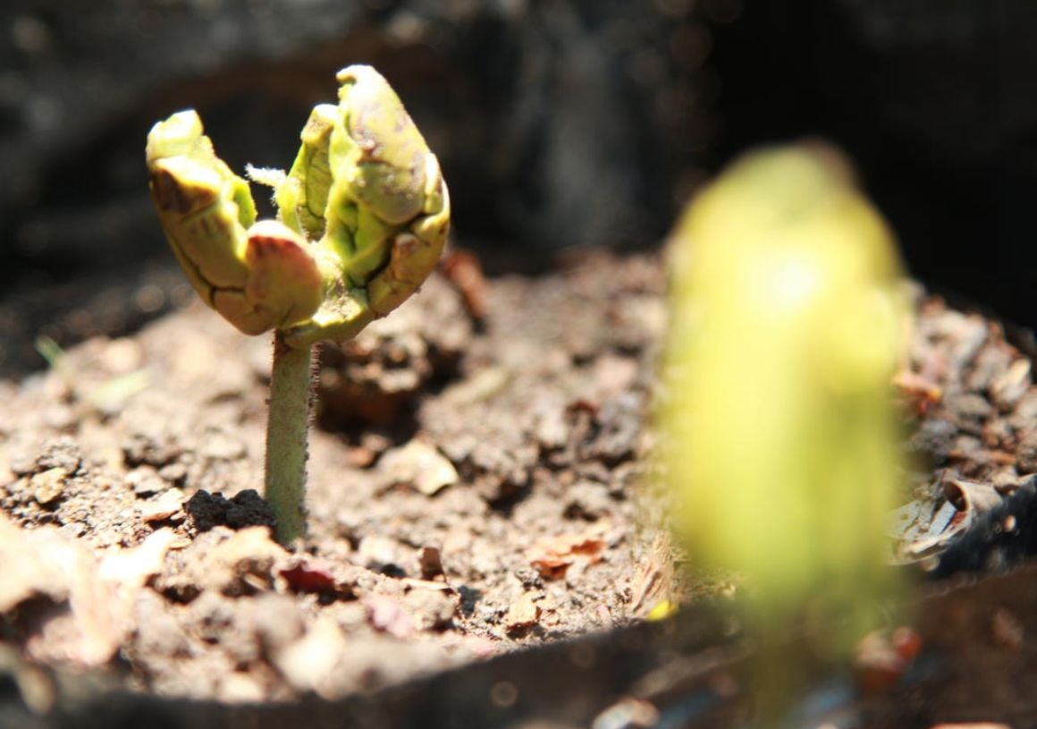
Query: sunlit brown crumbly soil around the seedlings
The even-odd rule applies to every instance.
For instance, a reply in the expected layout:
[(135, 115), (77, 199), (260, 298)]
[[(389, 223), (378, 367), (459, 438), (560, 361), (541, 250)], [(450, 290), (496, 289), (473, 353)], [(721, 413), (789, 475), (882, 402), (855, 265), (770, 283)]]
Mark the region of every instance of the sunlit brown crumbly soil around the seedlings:
[[(978, 314), (921, 293), (917, 311), (895, 380), (919, 455), (899, 560), (1004, 570), (1032, 552), (1002, 543), (1037, 472), (1030, 360)], [(259, 496), (265, 338), (194, 303), (52, 352), (48, 370), (0, 381), (0, 668), (37, 709), (59, 693), (38, 667), (224, 704), (373, 696), (695, 601), (644, 478), (665, 327), (657, 256), (483, 279), (455, 253), (321, 352), (310, 533), (291, 551)], [(1002, 541), (952, 565), (991, 518)], [(696, 635), (728, 640), (719, 624)]]

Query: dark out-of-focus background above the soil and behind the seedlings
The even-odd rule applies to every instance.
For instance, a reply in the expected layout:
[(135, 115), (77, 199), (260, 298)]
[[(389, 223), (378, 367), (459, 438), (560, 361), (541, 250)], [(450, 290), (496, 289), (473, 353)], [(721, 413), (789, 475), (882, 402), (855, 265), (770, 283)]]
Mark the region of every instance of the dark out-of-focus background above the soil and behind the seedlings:
[(235, 171), (287, 167), (354, 62), (416, 117), (491, 271), (657, 247), (731, 156), (823, 136), (917, 277), (1034, 325), (1035, 32), (1027, 0), (5, 0), (0, 374), (44, 365), (38, 334), (130, 331), (184, 296), (153, 121), (193, 106)]

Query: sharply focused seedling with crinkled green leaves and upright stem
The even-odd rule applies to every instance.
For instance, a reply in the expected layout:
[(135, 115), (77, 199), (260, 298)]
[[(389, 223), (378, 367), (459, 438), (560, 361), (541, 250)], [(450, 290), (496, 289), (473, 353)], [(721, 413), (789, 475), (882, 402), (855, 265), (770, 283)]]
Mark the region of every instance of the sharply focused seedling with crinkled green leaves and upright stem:
[(147, 137), (151, 197), (176, 259), (208, 306), (249, 335), (274, 331), (267, 501), (276, 537), (305, 536), (311, 349), (355, 336), (399, 306), (439, 260), (450, 225), (440, 165), (373, 68), (337, 75), (287, 174), (278, 220), (256, 221), (249, 184), (216, 156), (194, 110)]

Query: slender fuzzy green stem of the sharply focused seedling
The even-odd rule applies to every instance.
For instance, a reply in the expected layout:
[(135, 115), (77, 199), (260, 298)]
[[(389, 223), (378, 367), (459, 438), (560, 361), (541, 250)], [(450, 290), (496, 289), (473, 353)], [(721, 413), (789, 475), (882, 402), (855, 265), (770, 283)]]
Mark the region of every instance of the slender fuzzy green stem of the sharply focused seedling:
[(290, 544), (306, 536), (306, 457), (310, 426), (312, 347), (292, 348), (274, 333), (274, 369), (267, 421), (267, 503), (274, 536)]

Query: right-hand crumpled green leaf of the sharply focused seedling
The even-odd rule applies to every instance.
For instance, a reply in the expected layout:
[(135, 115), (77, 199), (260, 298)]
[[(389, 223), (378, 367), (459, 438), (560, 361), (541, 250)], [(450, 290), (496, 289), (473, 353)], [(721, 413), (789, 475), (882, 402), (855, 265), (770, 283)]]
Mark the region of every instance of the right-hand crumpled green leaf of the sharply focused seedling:
[[(307, 130), (319, 134), (307, 139), (304, 132), (288, 175), (297, 180), (291, 186), (307, 190), (310, 211), (327, 200), (314, 255), (329, 282), (312, 320), (285, 333), (292, 346), (349, 338), (399, 306), (436, 268), (450, 225), (439, 161), (389, 83), (365, 65), (344, 68), (337, 78), (342, 85), (333, 128), (328, 132), (327, 111), (316, 124), (314, 111)], [(326, 168), (331, 183), (324, 189)], [(316, 184), (314, 173), (320, 175)]]

